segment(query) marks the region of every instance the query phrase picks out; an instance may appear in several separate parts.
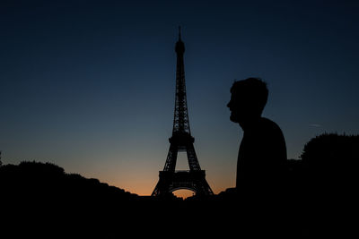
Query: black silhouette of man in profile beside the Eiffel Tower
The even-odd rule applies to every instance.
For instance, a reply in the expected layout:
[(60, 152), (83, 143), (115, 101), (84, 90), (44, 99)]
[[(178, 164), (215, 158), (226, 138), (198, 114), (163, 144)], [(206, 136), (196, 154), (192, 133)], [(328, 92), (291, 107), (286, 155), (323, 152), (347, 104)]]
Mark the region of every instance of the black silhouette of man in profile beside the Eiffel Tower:
[(279, 126), (261, 116), (267, 104), (267, 84), (257, 78), (235, 81), (231, 93), (227, 105), (230, 118), (243, 130), (237, 162), (237, 192), (242, 196), (276, 193), (285, 180), (286, 148)]

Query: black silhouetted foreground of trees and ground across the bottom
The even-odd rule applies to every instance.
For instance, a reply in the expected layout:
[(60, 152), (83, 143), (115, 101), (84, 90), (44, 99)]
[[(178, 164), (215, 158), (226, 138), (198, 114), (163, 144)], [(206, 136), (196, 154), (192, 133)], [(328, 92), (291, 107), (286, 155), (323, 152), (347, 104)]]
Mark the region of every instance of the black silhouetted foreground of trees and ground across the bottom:
[(349, 235), (359, 136), (323, 134), (288, 160), (281, 192), (142, 197), (49, 163), (0, 166), (4, 238)]

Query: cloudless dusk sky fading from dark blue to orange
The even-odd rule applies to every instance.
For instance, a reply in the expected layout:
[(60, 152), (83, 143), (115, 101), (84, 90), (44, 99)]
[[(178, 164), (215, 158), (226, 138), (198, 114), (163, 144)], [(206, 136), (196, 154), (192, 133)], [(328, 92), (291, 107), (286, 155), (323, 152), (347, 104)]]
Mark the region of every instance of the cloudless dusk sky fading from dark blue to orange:
[(234, 187), (235, 80), (267, 82), (263, 116), (288, 158), (320, 133), (359, 133), (358, 12), (343, 0), (1, 1), (2, 161), (150, 195), (170, 147), (180, 25), (197, 158), (215, 193)]

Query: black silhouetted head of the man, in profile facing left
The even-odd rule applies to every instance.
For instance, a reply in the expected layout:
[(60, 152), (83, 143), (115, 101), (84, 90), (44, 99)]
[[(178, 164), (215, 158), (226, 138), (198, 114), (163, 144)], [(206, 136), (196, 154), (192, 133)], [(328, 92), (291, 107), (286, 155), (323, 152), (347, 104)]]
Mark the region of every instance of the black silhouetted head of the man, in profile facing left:
[(227, 107), (231, 110), (234, 123), (250, 124), (262, 115), (267, 104), (267, 84), (258, 78), (235, 81), (231, 88), (232, 97)]

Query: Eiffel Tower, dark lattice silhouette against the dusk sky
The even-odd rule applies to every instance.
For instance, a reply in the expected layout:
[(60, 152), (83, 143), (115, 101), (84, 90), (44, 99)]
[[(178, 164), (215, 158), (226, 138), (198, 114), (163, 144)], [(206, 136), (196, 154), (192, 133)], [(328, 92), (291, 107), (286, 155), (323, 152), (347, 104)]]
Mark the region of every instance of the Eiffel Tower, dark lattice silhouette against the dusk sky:
[[(177, 70), (176, 70), (176, 99), (174, 107), (174, 120), (172, 137), (170, 141), (170, 150), (167, 155), (166, 163), (160, 171), (160, 179), (153, 190), (152, 196), (168, 195), (179, 189), (188, 189), (196, 192), (198, 196), (213, 195), (210, 186), (206, 182), (206, 171), (201, 170), (196, 151), (193, 146), (195, 138), (191, 136), (188, 107), (186, 96), (185, 70), (183, 55), (185, 45), (180, 38), (175, 47), (177, 53)], [(189, 170), (177, 171), (176, 161), (179, 152), (187, 152)]]

